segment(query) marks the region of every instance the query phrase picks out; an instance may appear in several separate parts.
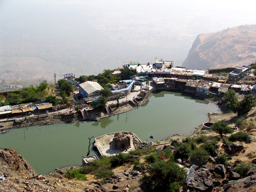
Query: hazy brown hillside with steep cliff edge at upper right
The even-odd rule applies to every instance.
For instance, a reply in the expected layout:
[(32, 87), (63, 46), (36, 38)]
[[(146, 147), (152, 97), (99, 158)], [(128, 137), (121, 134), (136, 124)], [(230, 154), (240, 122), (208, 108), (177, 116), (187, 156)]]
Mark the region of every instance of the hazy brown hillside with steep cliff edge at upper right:
[(256, 61), (256, 25), (199, 34), (182, 66), (213, 69), (248, 65)]

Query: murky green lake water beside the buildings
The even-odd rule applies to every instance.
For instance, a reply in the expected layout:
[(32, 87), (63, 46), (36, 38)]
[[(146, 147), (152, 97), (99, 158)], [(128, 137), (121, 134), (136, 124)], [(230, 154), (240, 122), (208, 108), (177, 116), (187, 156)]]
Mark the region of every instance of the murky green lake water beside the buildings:
[[(132, 111), (100, 122), (59, 123), (15, 128), (0, 134), (0, 147), (15, 148), (38, 174), (64, 166), (80, 166), (88, 151), (88, 137), (131, 131), (142, 141), (156, 141), (173, 134), (191, 134), (208, 121), (207, 112), (219, 108), (190, 94), (162, 91)], [(149, 137), (153, 135), (154, 139)], [(95, 154), (91, 149), (90, 154)]]

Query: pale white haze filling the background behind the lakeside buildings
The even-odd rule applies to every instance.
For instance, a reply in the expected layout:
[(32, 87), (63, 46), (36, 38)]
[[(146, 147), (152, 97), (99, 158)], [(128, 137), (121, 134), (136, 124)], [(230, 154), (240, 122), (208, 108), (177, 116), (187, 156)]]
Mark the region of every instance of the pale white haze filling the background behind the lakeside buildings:
[(198, 34), (255, 21), (253, 6), (221, 5), (218, 0), (211, 5), (201, 0), (2, 0), (0, 79), (96, 75), (156, 57), (181, 66)]

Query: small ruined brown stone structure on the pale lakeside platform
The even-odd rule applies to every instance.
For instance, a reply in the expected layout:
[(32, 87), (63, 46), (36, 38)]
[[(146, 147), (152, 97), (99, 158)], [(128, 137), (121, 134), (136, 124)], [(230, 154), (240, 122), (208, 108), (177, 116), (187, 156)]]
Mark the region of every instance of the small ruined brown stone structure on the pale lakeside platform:
[(116, 132), (113, 138), (114, 149), (121, 150), (131, 147), (130, 137), (120, 132)]

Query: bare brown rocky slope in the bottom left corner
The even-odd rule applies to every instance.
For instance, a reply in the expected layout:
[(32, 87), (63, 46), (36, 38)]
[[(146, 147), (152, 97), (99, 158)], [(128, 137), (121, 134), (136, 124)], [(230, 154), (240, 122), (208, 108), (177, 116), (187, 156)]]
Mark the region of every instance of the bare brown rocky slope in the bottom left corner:
[(107, 192), (96, 181), (69, 181), (60, 174), (36, 175), (35, 170), (16, 151), (0, 148), (1, 192)]

